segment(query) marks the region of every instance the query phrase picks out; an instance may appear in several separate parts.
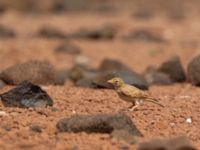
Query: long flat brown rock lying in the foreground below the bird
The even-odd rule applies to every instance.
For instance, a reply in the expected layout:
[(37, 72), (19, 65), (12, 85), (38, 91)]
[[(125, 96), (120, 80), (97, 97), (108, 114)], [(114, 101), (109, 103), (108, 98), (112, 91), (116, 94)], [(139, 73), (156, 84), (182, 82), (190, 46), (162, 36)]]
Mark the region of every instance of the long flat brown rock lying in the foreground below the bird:
[(125, 114), (76, 115), (60, 120), (57, 128), (61, 132), (108, 133), (115, 136), (119, 131), (130, 134), (130, 137), (141, 136), (131, 119)]

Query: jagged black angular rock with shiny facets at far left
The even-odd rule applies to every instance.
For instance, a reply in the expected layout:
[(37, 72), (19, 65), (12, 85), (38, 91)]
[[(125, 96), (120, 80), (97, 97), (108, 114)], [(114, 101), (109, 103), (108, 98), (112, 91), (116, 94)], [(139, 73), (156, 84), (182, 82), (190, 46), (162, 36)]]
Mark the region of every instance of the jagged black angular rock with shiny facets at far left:
[(53, 106), (53, 100), (39, 86), (24, 81), (16, 88), (0, 95), (6, 107), (47, 107)]

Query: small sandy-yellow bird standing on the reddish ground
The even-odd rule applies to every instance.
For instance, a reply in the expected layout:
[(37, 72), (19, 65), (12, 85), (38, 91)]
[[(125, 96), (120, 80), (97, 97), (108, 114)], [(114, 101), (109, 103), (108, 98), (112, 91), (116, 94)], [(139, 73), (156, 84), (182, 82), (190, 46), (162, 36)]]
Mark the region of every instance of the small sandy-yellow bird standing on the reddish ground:
[(133, 85), (126, 84), (119, 77), (114, 77), (107, 82), (114, 86), (115, 91), (122, 100), (132, 103), (129, 107), (130, 111), (136, 110), (144, 101), (152, 102), (164, 107), (164, 105), (159, 103), (158, 99), (151, 97), (147, 92), (142, 91)]

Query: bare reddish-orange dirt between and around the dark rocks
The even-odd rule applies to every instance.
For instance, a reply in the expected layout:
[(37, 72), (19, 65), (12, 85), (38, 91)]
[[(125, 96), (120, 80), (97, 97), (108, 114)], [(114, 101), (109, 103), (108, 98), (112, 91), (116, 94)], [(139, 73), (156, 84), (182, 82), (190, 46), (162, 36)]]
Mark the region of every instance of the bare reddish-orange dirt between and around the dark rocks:
[[(27, 60), (48, 60), (55, 68), (70, 68), (75, 56), (53, 52), (62, 40), (38, 38), (34, 34), (44, 25), (53, 26), (65, 33), (81, 27), (117, 25), (119, 34), (114, 40), (72, 40), (91, 59), (92, 67), (98, 67), (103, 58), (119, 59), (133, 70), (142, 73), (148, 65), (159, 66), (164, 60), (177, 54), (186, 70), (188, 62), (199, 53), (200, 22), (195, 13), (182, 21), (172, 21), (166, 16), (155, 16), (147, 21), (136, 20), (130, 12), (110, 15), (59, 14), (28, 15), (8, 11), (0, 16), (0, 24), (15, 30), (14, 39), (0, 40), (0, 70)], [(128, 42), (121, 39), (135, 27), (158, 28), (168, 43)], [(152, 55), (152, 51), (155, 54)], [(8, 91), (6, 86), (0, 93)], [(7, 116), (0, 117), (0, 149), (120, 149), (124, 146), (135, 149), (124, 141), (111, 139), (108, 134), (58, 133), (59, 119), (73, 114), (113, 113), (129, 106), (121, 101), (113, 90), (75, 87), (70, 81), (64, 86), (42, 86), (54, 100), (53, 108), (0, 110)], [(200, 149), (200, 88), (189, 83), (170, 86), (151, 86), (154, 97), (161, 99), (165, 108), (145, 103), (138, 111), (127, 113), (144, 137), (175, 137), (185, 135)], [(186, 122), (191, 117), (192, 123)], [(30, 131), (31, 124), (41, 126), (42, 132)]]

